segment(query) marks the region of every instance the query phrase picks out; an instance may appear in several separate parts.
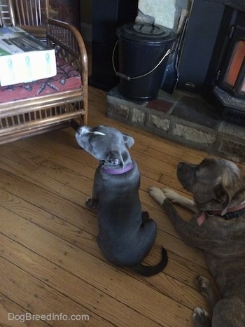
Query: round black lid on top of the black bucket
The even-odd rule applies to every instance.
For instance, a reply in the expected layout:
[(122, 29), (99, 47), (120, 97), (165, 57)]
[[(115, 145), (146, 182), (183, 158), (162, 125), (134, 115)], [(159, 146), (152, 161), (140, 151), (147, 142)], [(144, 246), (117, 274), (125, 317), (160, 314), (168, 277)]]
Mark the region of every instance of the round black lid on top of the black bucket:
[(139, 43), (167, 43), (173, 41), (176, 34), (167, 27), (153, 24), (125, 24), (116, 30), (117, 36)]

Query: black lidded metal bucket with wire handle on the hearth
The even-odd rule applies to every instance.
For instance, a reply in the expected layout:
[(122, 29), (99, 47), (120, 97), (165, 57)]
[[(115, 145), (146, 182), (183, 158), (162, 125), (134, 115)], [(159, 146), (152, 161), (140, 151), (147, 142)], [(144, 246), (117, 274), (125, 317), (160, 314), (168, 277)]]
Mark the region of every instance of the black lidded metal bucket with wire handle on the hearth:
[(137, 101), (155, 99), (176, 34), (160, 25), (130, 23), (118, 27), (116, 35), (120, 91)]

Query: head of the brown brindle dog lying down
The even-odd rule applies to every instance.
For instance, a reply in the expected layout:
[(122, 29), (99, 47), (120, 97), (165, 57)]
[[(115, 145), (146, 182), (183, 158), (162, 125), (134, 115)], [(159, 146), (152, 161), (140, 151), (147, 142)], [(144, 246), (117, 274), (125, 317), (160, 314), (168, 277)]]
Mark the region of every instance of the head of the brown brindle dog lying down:
[(179, 181), (193, 193), (197, 209), (222, 210), (245, 203), (244, 172), (225, 159), (206, 158), (199, 165), (180, 162)]

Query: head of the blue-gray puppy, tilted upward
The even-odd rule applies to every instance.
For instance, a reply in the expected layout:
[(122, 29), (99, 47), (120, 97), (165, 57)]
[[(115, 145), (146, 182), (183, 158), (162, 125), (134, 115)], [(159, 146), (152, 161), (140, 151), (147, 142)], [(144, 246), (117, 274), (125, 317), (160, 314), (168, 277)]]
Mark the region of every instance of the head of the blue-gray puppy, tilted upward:
[(113, 127), (81, 126), (76, 131), (76, 141), (104, 165), (125, 167), (131, 161), (128, 148), (134, 145), (134, 139)]

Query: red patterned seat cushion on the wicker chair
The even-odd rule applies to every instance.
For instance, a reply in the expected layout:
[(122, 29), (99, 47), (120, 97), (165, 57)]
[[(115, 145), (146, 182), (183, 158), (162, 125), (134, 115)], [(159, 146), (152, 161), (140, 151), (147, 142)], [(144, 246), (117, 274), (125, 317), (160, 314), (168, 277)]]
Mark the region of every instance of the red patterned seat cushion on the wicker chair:
[(57, 75), (43, 78), (31, 83), (0, 86), (0, 102), (10, 102), (31, 97), (51, 95), (56, 92), (80, 88), (81, 79), (78, 71), (73, 69), (60, 57), (56, 57)]

